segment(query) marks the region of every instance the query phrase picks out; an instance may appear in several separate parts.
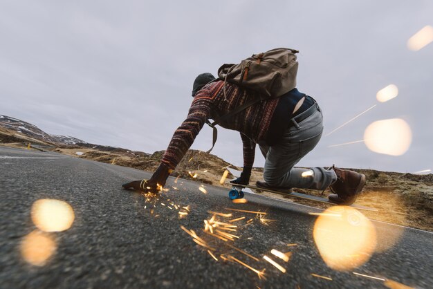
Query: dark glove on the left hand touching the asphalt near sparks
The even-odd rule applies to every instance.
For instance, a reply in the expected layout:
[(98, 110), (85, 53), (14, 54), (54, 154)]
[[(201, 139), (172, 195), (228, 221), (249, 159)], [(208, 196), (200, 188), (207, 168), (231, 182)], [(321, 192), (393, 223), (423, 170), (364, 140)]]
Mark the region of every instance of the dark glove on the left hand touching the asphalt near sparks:
[(158, 194), (163, 189), (167, 182), (167, 178), (172, 171), (172, 169), (169, 169), (161, 163), (158, 169), (156, 169), (154, 174), (151, 176), (150, 180), (134, 180), (123, 184), (122, 187), (124, 189), (131, 189), (139, 192)]

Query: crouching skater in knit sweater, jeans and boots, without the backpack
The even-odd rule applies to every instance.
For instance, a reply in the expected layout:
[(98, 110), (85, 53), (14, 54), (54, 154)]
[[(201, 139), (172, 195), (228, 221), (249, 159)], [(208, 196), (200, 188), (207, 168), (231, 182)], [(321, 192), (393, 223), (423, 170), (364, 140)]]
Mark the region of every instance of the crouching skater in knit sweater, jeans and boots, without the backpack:
[[(223, 86), (225, 85), (225, 95)], [(164, 186), (169, 174), (181, 161), (199, 134), (205, 121), (225, 115), (245, 103), (253, 92), (245, 91), (237, 84), (216, 80), (211, 73), (202, 73), (194, 80), (190, 106), (185, 121), (174, 132), (160, 166), (149, 180), (136, 180), (122, 185), (125, 189), (157, 193)], [(365, 185), (365, 175), (355, 171), (331, 167), (302, 169), (294, 167), (317, 142), (322, 131), (322, 111), (317, 102), (297, 88), (281, 97), (263, 100), (245, 109), (221, 127), (239, 131), (243, 143), (243, 171), (231, 183), (247, 185), (259, 145), (266, 158), (264, 181), (258, 187), (288, 189), (292, 187), (324, 190), (330, 187), (334, 194), (329, 201), (350, 205)], [(309, 174), (304, 174), (306, 171)]]

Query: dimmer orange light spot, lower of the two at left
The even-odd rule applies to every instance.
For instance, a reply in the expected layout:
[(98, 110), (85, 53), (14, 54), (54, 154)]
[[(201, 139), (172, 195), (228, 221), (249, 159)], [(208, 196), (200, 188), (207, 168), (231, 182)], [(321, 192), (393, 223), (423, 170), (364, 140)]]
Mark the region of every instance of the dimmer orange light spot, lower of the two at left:
[(26, 262), (42, 266), (55, 253), (57, 245), (53, 238), (39, 230), (35, 230), (21, 241), (21, 256)]

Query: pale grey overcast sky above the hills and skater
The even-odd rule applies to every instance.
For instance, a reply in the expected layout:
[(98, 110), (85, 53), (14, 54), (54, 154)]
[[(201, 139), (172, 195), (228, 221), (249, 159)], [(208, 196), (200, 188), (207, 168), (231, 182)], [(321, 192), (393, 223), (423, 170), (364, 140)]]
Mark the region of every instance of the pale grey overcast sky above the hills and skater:
[[(0, 114), (51, 133), (152, 153), (166, 149), (199, 73), (275, 47), (300, 50), (297, 88), (319, 102), (324, 135), (302, 166), (433, 169), (433, 1), (0, 1)], [(398, 96), (379, 103), (389, 84)], [(362, 140), (377, 120), (412, 129), (402, 156)], [(192, 149), (210, 148), (205, 126)], [(212, 153), (242, 165), (237, 131)], [(259, 155), (255, 166), (264, 164)]]

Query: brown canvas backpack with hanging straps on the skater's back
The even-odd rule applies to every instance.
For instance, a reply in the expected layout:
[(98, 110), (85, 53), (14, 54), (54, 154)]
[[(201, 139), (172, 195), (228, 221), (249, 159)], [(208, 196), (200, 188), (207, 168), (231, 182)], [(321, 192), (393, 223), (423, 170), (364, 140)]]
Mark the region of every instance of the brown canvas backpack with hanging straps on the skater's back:
[(212, 151), (216, 142), (216, 124), (261, 100), (279, 97), (295, 88), (298, 67), (296, 53), (299, 51), (291, 48), (275, 48), (265, 53), (252, 55), (243, 59), (239, 64), (223, 64), (218, 69), (219, 79), (224, 80), (224, 97), (225, 82), (238, 84), (246, 90), (255, 91), (259, 97), (254, 97), (212, 123), (209, 120), (206, 121), (213, 129), (212, 147), (207, 151), (208, 153)]

